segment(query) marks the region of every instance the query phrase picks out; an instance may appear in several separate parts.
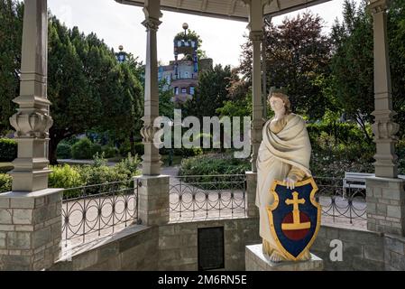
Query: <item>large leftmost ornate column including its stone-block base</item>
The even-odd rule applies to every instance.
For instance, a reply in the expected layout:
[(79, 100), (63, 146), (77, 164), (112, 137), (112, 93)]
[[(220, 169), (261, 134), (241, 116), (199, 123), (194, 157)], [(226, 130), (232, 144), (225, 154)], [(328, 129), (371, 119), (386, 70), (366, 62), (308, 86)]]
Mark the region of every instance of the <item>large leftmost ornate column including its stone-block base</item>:
[(60, 257), (61, 190), (48, 189), (48, 10), (25, 0), (18, 112), (10, 118), (18, 142), (13, 191), (0, 194), (0, 270), (41, 270)]

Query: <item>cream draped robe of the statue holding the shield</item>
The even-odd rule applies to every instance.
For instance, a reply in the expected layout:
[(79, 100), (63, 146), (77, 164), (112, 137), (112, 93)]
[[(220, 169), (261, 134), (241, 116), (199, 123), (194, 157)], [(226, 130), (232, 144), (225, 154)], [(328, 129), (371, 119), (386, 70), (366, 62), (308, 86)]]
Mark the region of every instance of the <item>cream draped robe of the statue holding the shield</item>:
[(301, 181), (311, 175), (311, 144), (304, 119), (295, 114), (269, 120), (263, 126), (262, 136), (257, 157), (256, 206), (260, 212), (260, 236), (277, 249), (266, 210), (274, 201), (270, 188), (274, 180), (290, 177)]

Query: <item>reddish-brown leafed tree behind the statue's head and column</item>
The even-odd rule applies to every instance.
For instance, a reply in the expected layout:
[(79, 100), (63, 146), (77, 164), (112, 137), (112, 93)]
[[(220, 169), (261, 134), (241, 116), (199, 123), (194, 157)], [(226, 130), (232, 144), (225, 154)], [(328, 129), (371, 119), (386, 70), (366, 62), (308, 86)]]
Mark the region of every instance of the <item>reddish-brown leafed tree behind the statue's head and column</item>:
[[(285, 18), (280, 25), (266, 25), (268, 88), (287, 91), (293, 109), (313, 119), (329, 105), (318, 79), (328, 74), (330, 43), (322, 33), (323, 20), (311, 13)], [(240, 71), (252, 83), (252, 42), (243, 45)], [(268, 91), (267, 91), (268, 92)]]

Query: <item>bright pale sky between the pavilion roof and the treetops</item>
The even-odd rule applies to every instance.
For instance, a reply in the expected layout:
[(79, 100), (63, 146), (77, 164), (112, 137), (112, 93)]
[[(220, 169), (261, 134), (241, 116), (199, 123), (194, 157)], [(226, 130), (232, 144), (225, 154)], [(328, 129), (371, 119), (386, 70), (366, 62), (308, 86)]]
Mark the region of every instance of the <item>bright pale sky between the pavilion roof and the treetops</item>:
[[(311, 11), (324, 19), (324, 32), (328, 33), (336, 18), (342, 20), (343, 3), (344, 0), (332, 0), (274, 17), (272, 22), (281, 23), (286, 16)], [(120, 5), (114, 0), (48, 0), (48, 7), (69, 28), (78, 26), (81, 32), (97, 33), (98, 38), (104, 39), (115, 51), (119, 45), (123, 45), (124, 51), (144, 61), (146, 33), (141, 24), (144, 20), (142, 7)], [(203, 41), (201, 49), (215, 64), (232, 67), (239, 64), (241, 45), (245, 42), (244, 35), (248, 33), (247, 23), (167, 11), (162, 11), (162, 14), (158, 31), (158, 60), (162, 63), (168, 64), (174, 59), (173, 37), (182, 31), (182, 23), (189, 23), (189, 29), (196, 31)]]

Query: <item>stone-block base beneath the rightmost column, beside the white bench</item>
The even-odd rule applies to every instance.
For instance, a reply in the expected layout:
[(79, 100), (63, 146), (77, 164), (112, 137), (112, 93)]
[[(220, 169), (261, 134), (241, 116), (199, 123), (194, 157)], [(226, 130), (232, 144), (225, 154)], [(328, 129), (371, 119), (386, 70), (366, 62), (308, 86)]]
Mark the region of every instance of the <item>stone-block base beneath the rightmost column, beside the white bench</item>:
[(365, 185), (367, 228), (405, 236), (405, 180), (371, 177)]

